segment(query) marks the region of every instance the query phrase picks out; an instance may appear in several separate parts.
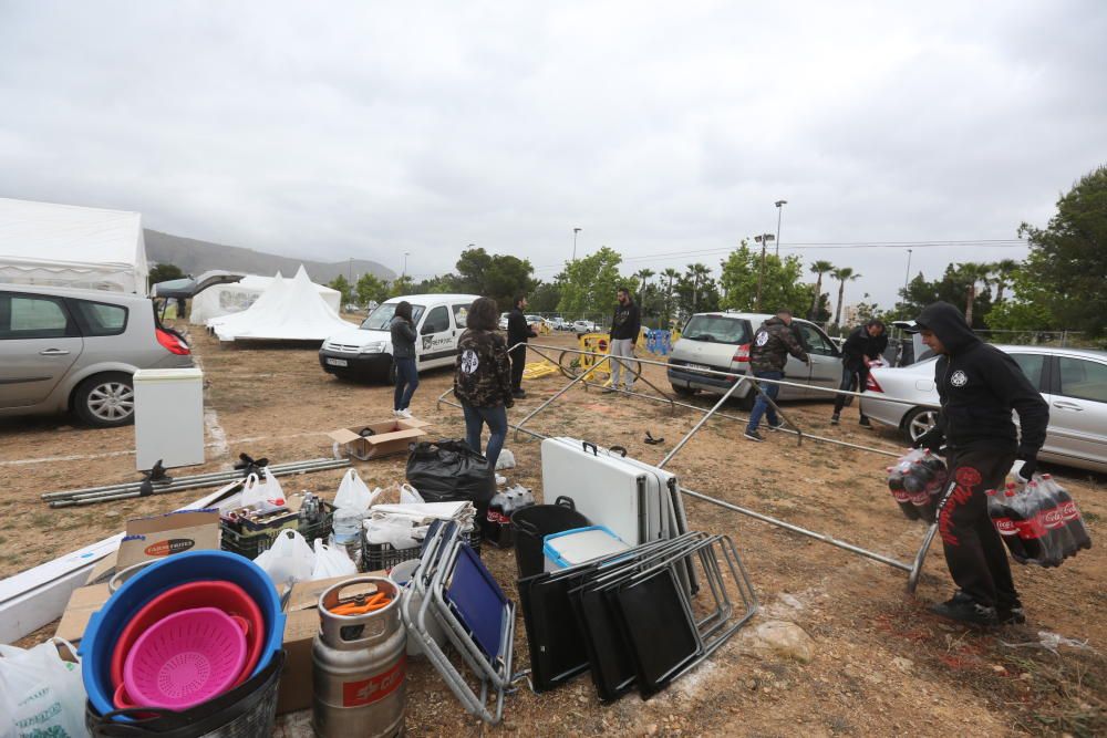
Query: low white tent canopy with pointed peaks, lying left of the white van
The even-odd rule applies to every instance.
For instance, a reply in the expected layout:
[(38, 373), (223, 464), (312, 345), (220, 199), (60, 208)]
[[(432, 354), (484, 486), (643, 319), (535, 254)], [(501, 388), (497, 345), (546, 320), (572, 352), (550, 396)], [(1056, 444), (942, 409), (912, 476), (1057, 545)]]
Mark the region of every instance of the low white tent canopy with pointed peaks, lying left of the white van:
[(323, 341), (351, 323), (327, 304), (300, 267), (278, 279), (249, 309), (208, 321), (220, 341)]

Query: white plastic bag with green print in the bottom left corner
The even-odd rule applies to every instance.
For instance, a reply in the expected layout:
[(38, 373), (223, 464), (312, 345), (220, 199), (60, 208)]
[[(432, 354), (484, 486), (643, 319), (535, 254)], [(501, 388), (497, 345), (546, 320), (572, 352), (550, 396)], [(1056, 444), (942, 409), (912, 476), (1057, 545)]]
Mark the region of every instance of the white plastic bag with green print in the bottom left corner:
[[(68, 641), (58, 640), (76, 651)], [(87, 736), (81, 665), (63, 661), (54, 641), (30, 649), (0, 645), (0, 735)]]

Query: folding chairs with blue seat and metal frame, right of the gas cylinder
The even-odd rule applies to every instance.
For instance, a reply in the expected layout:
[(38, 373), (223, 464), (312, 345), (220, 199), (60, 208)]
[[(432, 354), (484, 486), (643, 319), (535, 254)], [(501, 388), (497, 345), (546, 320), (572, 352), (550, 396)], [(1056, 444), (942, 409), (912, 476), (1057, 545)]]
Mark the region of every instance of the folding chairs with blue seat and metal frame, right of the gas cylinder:
[[(466, 710), (487, 723), (499, 723), (504, 695), (513, 682), (515, 604), (464, 541), (456, 523), (432, 524), (420, 565), (406, 586), (418, 595), (402, 600), (407, 637), (418, 641)], [(453, 659), (433, 637), (435, 624), (453, 646)]]

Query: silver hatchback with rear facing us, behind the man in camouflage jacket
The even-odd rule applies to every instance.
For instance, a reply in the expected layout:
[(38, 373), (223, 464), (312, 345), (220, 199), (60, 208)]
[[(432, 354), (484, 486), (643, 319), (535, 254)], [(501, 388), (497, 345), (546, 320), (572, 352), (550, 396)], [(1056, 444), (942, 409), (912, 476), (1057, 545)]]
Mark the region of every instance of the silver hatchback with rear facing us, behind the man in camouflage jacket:
[[(677, 395), (691, 396), (696, 392), (725, 394), (737, 376), (725, 377), (706, 374), (704, 370), (751, 374), (749, 343), (754, 332), (773, 315), (765, 313), (697, 313), (689, 319), (680, 340), (669, 355), (669, 383)], [(792, 330), (811, 358), (808, 366), (795, 356), (788, 356), (784, 378), (813, 387), (837, 389), (841, 381), (841, 352), (823, 329), (805, 320), (794, 319)], [(753, 407), (757, 392), (746, 383), (733, 397), (741, 407)], [(780, 386), (778, 399), (834, 399), (829, 392), (818, 392)]]

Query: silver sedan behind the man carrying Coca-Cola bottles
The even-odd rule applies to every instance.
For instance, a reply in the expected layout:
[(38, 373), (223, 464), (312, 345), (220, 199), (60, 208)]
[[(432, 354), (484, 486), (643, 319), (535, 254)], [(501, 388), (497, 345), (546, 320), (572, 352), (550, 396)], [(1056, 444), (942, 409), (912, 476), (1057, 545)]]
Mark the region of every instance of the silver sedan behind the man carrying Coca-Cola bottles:
[[(1043, 460), (1107, 471), (1107, 352), (1046, 346), (996, 346), (1011, 354), (1049, 403)], [(899, 428), (912, 441), (938, 417), (937, 357), (903, 367), (873, 368), (861, 412)], [(880, 399), (909, 399), (910, 405)]]

